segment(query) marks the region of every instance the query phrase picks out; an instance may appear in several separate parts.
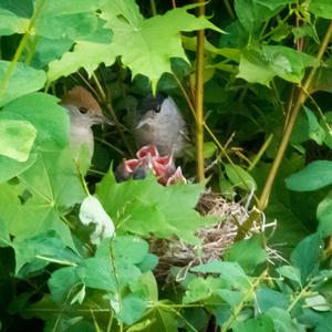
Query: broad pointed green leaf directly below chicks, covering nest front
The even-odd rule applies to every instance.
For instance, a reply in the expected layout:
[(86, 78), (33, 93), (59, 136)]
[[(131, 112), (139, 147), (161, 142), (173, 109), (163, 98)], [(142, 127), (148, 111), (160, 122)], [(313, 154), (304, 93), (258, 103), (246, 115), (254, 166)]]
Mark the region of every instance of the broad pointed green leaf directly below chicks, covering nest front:
[(195, 210), (201, 190), (203, 185), (164, 187), (153, 176), (117, 184), (107, 173), (96, 186), (96, 196), (118, 230), (162, 238), (176, 235), (199, 243), (195, 232), (209, 221)]

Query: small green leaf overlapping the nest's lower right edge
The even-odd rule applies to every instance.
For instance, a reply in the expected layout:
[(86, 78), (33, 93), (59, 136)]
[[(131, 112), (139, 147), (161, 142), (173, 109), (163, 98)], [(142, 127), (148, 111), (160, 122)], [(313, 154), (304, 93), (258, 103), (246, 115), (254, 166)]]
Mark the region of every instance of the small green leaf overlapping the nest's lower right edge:
[(252, 236), (249, 239), (235, 242), (225, 252), (225, 260), (238, 262), (247, 273), (267, 260), (267, 252), (262, 247), (260, 235)]

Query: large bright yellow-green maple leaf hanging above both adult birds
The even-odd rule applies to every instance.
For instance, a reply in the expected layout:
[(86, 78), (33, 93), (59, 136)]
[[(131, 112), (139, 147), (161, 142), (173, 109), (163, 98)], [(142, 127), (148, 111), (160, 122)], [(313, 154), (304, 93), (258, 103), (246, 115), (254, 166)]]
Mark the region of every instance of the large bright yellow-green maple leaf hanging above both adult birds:
[(176, 8), (163, 15), (144, 19), (134, 0), (107, 1), (101, 8), (101, 18), (106, 21), (105, 28), (113, 31), (112, 42), (101, 44), (77, 41), (73, 52), (50, 63), (49, 81), (69, 75), (82, 66), (92, 74), (100, 63), (110, 65), (116, 56), (121, 56), (124, 65), (132, 70), (133, 76), (138, 73), (148, 76), (155, 87), (163, 73), (172, 72), (172, 58), (188, 61), (181, 45), (180, 31), (214, 29), (222, 32), (205, 17), (197, 18), (187, 12), (195, 7)]

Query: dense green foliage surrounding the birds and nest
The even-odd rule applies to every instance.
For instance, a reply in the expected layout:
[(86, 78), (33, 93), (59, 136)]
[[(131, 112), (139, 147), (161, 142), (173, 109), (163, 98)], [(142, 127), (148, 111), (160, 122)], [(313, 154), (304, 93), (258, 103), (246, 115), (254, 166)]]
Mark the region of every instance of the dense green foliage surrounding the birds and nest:
[[(0, 0), (1, 330), (332, 330), (332, 3), (183, 2)], [(115, 124), (95, 128), (92, 165), (72, 158), (59, 105), (76, 84)], [(186, 117), (191, 184), (115, 181), (151, 91)], [(195, 210), (205, 186), (249, 217), (221, 260), (157, 282), (151, 237), (199, 255), (196, 230), (216, 222)]]

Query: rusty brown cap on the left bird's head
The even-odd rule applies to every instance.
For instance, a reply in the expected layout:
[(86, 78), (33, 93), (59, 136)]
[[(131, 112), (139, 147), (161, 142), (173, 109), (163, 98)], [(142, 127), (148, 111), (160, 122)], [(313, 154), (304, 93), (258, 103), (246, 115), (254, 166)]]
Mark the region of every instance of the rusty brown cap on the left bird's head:
[(82, 85), (69, 90), (62, 97), (62, 105), (74, 105), (81, 113), (90, 115), (102, 115), (102, 108), (94, 96)]

